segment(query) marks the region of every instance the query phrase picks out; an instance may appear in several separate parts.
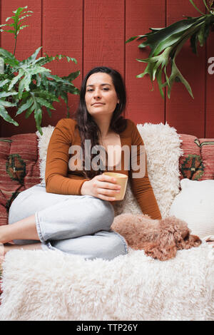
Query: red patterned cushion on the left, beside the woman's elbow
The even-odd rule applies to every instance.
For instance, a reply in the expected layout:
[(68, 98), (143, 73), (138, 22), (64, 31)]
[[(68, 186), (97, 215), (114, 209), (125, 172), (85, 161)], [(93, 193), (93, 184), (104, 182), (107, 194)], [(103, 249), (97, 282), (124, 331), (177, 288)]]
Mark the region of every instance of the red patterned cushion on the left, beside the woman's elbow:
[(16, 196), (40, 182), (36, 134), (0, 138), (0, 176), (0, 225), (6, 225)]

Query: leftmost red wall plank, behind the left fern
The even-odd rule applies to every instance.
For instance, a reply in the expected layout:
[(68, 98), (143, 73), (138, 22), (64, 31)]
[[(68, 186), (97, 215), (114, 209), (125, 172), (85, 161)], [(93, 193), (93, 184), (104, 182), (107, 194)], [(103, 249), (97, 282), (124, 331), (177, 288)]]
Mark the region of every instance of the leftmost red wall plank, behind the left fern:
[[(16, 44), (15, 56), (20, 61), (31, 56), (32, 53), (41, 46), (41, 0), (1, 0), (1, 22), (13, 16), (12, 11), (19, 7), (28, 6), (28, 10), (34, 11), (32, 16), (26, 18), (25, 24), (29, 27), (21, 30)], [(1, 47), (14, 52), (14, 35), (11, 33), (1, 33)], [(15, 118), (16, 109), (13, 108), (10, 113), (11, 117), (19, 123), (19, 127), (4, 121), (1, 118), (1, 136), (11, 136), (18, 133), (34, 133), (36, 131), (34, 115), (28, 119), (24, 118), (24, 113)]]

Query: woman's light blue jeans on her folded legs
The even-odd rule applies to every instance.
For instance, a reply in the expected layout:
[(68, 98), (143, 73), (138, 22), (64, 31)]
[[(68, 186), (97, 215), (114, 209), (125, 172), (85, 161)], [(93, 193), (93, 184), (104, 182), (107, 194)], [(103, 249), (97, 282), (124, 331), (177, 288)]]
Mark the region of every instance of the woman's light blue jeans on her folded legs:
[[(110, 202), (90, 195), (47, 193), (45, 185), (34, 185), (19, 193), (9, 210), (9, 224), (35, 214), (43, 249), (59, 249), (85, 259), (113, 259), (127, 254), (126, 240), (111, 230), (114, 218)], [(32, 244), (35, 240), (14, 240)]]

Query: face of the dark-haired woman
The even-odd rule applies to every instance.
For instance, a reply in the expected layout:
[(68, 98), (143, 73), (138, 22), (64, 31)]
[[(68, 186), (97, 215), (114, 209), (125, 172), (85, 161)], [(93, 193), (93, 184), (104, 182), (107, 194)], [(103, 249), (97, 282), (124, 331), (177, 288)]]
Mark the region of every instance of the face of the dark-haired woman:
[(119, 100), (111, 76), (93, 73), (86, 82), (85, 100), (91, 116), (112, 115)]

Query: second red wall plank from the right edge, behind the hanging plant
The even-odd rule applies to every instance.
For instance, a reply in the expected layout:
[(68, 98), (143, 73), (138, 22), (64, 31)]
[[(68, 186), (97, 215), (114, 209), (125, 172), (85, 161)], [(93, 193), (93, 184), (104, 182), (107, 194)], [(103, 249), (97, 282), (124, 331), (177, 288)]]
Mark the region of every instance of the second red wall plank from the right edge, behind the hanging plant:
[[(204, 11), (203, 1), (195, 0)], [(189, 1), (167, 1), (167, 25), (180, 21), (185, 16), (200, 16)], [(182, 83), (174, 83), (170, 100), (166, 101), (166, 120), (178, 133), (203, 137), (205, 128), (205, 46), (198, 46), (198, 56), (190, 48), (190, 41), (176, 57), (178, 69), (190, 84), (194, 99)]]

